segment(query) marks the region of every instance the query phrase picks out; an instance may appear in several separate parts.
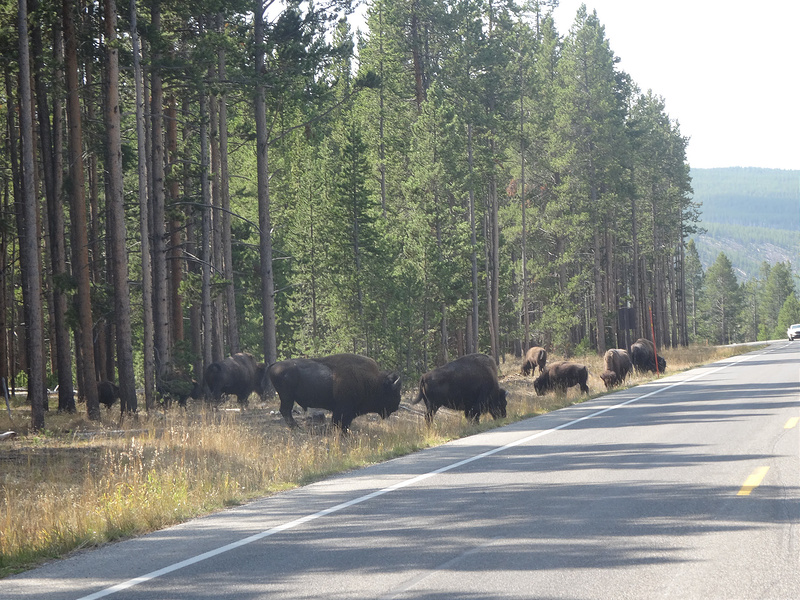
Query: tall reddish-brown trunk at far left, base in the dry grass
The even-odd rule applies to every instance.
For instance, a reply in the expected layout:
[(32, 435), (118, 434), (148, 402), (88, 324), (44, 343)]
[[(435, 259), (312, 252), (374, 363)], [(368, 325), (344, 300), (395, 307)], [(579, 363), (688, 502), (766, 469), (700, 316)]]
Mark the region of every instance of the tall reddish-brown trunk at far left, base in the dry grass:
[(75, 298), (78, 308), (78, 345), (81, 355), (82, 395), (86, 398), (88, 416), (100, 420), (100, 403), (95, 385), (95, 357), (92, 340), (92, 300), (89, 280), (89, 240), (86, 234), (86, 200), (83, 176), (83, 131), (78, 84), (78, 50), (75, 22), (72, 10), (74, 3), (63, 0), (65, 69), (67, 85), (67, 124), (69, 130), (70, 208), (72, 223), (72, 276), (77, 281)]

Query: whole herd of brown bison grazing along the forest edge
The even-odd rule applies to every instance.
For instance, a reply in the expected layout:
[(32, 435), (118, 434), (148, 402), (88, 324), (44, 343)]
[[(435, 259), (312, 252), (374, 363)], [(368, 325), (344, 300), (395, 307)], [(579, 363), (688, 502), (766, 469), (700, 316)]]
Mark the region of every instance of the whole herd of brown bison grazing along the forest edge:
[[(663, 373), (667, 363), (658, 356), (653, 343), (634, 342), (630, 350), (611, 349), (603, 356), (600, 374), (607, 389), (620, 385), (635, 369)], [(530, 348), (520, 373), (535, 375), (537, 395), (564, 392), (578, 386), (589, 393), (589, 369), (570, 361), (547, 364), (544, 348)], [(280, 414), (286, 425), (297, 427), (294, 406), (304, 411), (319, 408), (332, 413), (332, 422), (347, 431), (353, 419), (376, 413), (386, 418), (400, 407), (402, 381), (398, 373), (382, 370), (373, 359), (358, 354), (334, 354), (319, 358), (292, 358), (271, 365), (258, 363), (247, 353), (238, 353), (209, 365), (202, 381), (193, 382), (192, 397), (202, 396), (213, 405), (223, 396), (235, 396), (247, 406), (255, 392), (264, 396), (272, 387), (280, 399)], [(119, 398), (119, 388), (109, 381), (97, 384), (100, 402), (110, 408)], [(430, 425), (439, 408), (462, 411), (477, 422), (483, 414), (494, 419), (506, 416), (507, 392), (500, 387), (497, 364), (485, 354), (468, 354), (425, 373), (419, 380), (412, 404), (425, 403), (425, 421)], [(185, 405), (185, 397), (181, 405)]]

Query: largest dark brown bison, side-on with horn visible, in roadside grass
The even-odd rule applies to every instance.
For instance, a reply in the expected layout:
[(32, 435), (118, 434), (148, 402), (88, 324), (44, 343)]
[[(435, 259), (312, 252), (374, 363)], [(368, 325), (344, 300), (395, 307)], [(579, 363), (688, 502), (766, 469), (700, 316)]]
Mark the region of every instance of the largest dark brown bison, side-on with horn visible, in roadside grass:
[(374, 412), (385, 419), (400, 406), (400, 375), (381, 371), (374, 360), (358, 354), (292, 358), (270, 365), (267, 373), (289, 427), (297, 427), (295, 404), (331, 411), (334, 425), (344, 431), (359, 415)]

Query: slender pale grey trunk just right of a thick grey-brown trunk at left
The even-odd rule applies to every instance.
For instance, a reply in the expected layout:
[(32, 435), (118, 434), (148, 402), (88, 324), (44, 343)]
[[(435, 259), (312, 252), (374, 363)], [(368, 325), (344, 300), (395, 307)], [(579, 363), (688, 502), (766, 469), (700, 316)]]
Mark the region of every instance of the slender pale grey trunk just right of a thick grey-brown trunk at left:
[(147, 411), (155, 408), (155, 344), (153, 324), (153, 277), (150, 254), (150, 218), (148, 202), (147, 133), (145, 127), (144, 76), (140, 62), (139, 31), (136, 26), (136, 0), (130, 0), (131, 43), (134, 84), (136, 87), (136, 142), (139, 172), (139, 222), (142, 244), (142, 328), (144, 362), (144, 399)]

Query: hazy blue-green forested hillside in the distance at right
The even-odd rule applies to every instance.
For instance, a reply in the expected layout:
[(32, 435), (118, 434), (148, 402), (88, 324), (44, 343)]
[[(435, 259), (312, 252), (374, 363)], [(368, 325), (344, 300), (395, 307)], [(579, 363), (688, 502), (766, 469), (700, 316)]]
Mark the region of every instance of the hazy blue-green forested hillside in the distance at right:
[(739, 278), (758, 273), (763, 261), (790, 261), (800, 273), (800, 171), (692, 169), (694, 199), (701, 205), (695, 238), (703, 266), (724, 252)]

